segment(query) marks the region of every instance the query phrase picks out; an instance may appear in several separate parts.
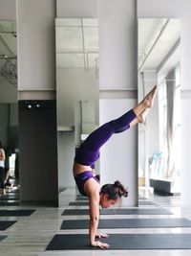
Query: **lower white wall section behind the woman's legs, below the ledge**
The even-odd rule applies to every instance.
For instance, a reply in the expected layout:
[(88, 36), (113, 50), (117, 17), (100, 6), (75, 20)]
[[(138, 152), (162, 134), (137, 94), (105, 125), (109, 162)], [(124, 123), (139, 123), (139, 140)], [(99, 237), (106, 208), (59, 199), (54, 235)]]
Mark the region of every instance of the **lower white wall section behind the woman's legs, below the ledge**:
[[(136, 100), (100, 100), (100, 125), (116, 119), (135, 105)], [(138, 148), (137, 129), (138, 127), (133, 127), (114, 134), (100, 151), (101, 184), (114, 183), (119, 180), (129, 190), (129, 197), (122, 198), (122, 205), (138, 203), (138, 164), (135, 161)]]

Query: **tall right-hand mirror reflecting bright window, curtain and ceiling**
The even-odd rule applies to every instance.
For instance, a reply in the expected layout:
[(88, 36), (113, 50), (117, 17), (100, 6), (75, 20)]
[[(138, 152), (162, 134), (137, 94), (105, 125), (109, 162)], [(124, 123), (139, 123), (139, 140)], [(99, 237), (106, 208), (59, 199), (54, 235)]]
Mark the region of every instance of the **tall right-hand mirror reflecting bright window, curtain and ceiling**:
[(138, 100), (155, 84), (155, 104), (138, 126), (138, 185), (180, 194), (179, 19), (138, 19)]

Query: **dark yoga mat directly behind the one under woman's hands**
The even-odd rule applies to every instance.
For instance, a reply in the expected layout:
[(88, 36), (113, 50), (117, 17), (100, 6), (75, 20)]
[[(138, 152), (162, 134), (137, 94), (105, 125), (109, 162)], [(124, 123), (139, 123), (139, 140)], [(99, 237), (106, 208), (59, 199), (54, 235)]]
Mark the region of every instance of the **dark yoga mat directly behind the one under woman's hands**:
[[(60, 229), (87, 229), (89, 220), (62, 221)], [(180, 218), (165, 219), (109, 219), (99, 220), (98, 228), (191, 227), (191, 221)]]

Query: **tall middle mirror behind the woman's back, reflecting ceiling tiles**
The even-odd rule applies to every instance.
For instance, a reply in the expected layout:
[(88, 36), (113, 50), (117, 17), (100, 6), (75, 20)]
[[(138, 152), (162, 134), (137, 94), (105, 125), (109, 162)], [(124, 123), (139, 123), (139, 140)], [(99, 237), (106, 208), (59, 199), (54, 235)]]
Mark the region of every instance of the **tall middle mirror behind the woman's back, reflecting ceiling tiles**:
[[(98, 126), (98, 20), (55, 19), (59, 205), (74, 187), (74, 151)], [(63, 197), (62, 197), (63, 196)]]

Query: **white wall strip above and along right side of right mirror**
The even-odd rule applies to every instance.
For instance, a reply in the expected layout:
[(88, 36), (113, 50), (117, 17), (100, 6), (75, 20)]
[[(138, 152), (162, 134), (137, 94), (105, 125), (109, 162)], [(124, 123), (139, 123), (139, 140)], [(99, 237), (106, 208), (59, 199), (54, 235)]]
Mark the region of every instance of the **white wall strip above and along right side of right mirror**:
[(191, 158), (188, 151), (191, 145), (191, 136), (189, 135), (190, 120), (187, 118), (191, 108), (190, 95), (189, 100), (186, 100), (187, 94), (191, 90), (191, 72), (190, 72), (190, 59), (191, 59), (191, 1), (188, 0), (138, 0), (138, 17), (172, 17), (181, 19), (181, 58), (180, 58), (180, 84), (183, 92), (181, 98), (181, 161), (182, 169), (180, 172), (180, 193), (181, 204), (183, 206), (191, 206), (191, 172), (189, 167), (191, 165)]

